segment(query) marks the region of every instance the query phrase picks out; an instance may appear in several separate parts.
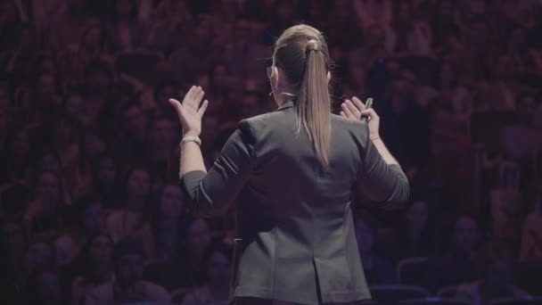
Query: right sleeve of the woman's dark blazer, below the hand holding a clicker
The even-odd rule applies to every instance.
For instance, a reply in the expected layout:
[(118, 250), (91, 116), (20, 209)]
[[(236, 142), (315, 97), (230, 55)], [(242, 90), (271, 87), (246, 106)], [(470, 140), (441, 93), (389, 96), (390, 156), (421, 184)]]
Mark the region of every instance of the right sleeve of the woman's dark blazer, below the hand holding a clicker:
[(410, 186), (403, 169), (398, 164), (388, 164), (369, 139), (364, 139), (361, 169), (357, 177), (358, 197), (371, 207), (394, 210), (408, 200)]

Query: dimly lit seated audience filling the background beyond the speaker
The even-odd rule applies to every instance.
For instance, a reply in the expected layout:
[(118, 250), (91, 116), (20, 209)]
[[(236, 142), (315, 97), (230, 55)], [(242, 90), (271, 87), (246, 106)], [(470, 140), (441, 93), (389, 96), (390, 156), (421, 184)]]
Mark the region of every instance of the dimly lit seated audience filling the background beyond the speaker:
[(398, 212), (357, 202), (368, 283), (542, 295), (540, 1), (0, 5), (3, 303), (226, 303), (234, 218), (190, 214), (168, 98), (206, 91), (211, 166), (238, 120), (274, 109), (272, 45), (301, 22), (328, 38), (333, 111), (373, 97), (412, 188)]

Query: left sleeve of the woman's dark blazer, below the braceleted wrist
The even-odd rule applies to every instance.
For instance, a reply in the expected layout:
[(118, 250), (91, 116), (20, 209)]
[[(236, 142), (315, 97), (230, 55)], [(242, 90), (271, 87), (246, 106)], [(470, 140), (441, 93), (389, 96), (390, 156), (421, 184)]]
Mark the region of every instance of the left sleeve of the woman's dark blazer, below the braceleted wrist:
[(242, 120), (207, 173), (196, 170), (181, 177), (180, 184), (193, 213), (215, 215), (234, 202), (250, 177), (254, 144), (250, 123)]

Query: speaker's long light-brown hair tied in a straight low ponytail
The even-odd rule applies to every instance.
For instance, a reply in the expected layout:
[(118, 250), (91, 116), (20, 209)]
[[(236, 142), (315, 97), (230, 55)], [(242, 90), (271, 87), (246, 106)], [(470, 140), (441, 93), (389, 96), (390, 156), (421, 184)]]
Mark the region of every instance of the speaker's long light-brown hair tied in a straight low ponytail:
[(286, 29), (275, 42), (273, 62), (284, 71), (292, 94), (297, 95), (298, 128), (305, 129), (316, 156), (329, 167), (331, 142), (331, 96), (327, 72), (330, 57), (322, 33), (308, 25)]

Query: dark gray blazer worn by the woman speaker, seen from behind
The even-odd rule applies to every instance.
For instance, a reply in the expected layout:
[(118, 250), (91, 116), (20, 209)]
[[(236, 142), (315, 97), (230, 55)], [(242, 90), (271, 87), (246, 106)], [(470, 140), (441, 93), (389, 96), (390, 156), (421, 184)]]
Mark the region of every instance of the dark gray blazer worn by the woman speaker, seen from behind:
[(353, 197), (398, 208), (408, 198), (406, 176), (382, 160), (366, 123), (333, 114), (331, 169), (324, 171), (307, 134), (295, 135), (296, 120), (292, 102), (242, 120), (208, 173), (188, 172), (181, 184), (197, 213), (236, 204), (230, 300), (369, 299)]

